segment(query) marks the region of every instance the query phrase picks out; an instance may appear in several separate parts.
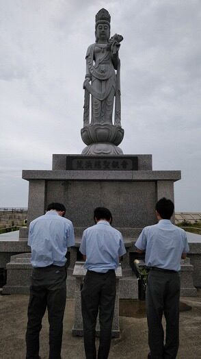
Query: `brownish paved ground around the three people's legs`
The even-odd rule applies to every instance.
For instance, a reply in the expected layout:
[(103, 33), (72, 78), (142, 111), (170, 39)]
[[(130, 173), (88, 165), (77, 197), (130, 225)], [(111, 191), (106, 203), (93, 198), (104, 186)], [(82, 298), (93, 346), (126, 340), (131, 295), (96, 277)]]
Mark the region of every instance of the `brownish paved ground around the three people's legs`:
[[(25, 359), (25, 329), (27, 323), (27, 295), (0, 295), (0, 358)], [(198, 297), (182, 297), (181, 302), (191, 310), (180, 312), (180, 348), (177, 359), (201, 358), (201, 290)], [(182, 306), (183, 307), (183, 306)], [(71, 335), (74, 300), (66, 302), (63, 359), (84, 359), (83, 339)], [(148, 330), (144, 302), (128, 301), (120, 306), (120, 339), (113, 339), (109, 359), (146, 359)], [(126, 317), (132, 314), (134, 317)], [(48, 359), (48, 322), (44, 317), (41, 331), (40, 355)]]

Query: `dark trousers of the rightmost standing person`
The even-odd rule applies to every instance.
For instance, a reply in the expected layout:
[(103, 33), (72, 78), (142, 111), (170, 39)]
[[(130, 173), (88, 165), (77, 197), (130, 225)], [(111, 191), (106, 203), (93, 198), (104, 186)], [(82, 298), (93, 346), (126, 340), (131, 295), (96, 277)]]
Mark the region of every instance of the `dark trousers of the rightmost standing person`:
[[(148, 273), (146, 312), (151, 359), (176, 359), (179, 344), (180, 275), (173, 271)], [(161, 323), (166, 321), (166, 337)]]

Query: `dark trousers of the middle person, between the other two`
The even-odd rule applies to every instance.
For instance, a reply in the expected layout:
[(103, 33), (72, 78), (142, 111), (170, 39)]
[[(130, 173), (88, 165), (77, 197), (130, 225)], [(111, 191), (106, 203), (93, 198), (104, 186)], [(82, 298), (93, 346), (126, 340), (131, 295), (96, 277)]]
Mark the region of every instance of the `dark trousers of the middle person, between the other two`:
[(86, 359), (96, 359), (96, 319), (99, 310), (100, 343), (98, 359), (107, 359), (116, 298), (115, 271), (88, 271), (81, 290), (81, 311)]

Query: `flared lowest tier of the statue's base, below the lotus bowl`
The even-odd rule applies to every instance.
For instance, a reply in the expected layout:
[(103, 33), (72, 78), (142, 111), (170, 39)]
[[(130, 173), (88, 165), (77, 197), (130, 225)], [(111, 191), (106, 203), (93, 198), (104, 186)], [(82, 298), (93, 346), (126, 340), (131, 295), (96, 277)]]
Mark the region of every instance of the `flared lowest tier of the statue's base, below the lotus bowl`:
[(122, 155), (123, 151), (120, 147), (112, 143), (93, 143), (85, 147), (81, 153), (82, 155)]

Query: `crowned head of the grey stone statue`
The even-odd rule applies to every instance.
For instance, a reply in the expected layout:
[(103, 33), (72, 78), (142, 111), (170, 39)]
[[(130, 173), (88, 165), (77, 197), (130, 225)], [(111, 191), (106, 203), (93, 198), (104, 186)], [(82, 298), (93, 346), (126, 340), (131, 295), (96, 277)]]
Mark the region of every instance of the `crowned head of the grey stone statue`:
[(96, 14), (96, 25), (95, 25), (95, 36), (96, 42), (98, 39), (101, 40), (101, 37), (106, 37), (106, 40), (110, 38), (110, 19), (111, 16), (109, 12), (105, 9), (101, 9)]

